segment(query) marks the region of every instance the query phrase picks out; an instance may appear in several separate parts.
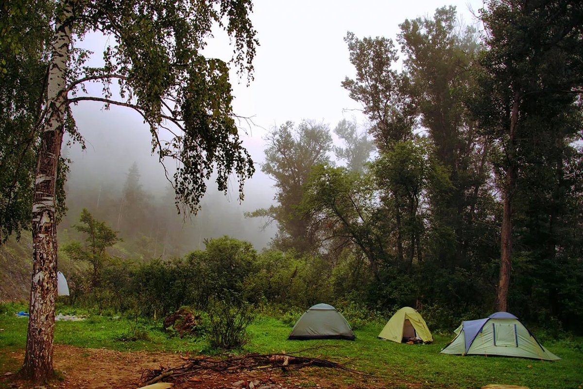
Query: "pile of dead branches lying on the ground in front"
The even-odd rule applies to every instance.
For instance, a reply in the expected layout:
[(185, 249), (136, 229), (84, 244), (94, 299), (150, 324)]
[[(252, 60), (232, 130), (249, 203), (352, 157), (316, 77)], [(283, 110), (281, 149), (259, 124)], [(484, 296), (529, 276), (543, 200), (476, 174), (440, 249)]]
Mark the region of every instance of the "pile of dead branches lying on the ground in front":
[(291, 368), (299, 369), (305, 366), (331, 367), (333, 369), (346, 370), (348, 372), (361, 374), (357, 370), (349, 369), (340, 363), (321, 358), (309, 358), (297, 356), (298, 353), (308, 349), (290, 352), (257, 354), (251, 353), (240, 356), (230, 356), (228, 358), (217, 357), (195, 357), (184, 358), (187, 362), (180, 366), (160, 367), (160, 369), (145, 370), (142, 373), (142, 382), (151, 385), (161, 380), (177, 380), (186, 376), (202, 372), (238, 372), (241, 370), (266, 370)]

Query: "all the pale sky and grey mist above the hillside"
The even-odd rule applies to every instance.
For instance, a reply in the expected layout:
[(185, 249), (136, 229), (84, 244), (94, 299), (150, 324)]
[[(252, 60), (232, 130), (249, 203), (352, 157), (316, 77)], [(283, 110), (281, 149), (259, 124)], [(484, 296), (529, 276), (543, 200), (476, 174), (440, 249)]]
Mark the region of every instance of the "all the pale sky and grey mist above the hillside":
[[(476, 1), (473, 5), (461, 0), (454, 3), (457, 3), (460, 16), (466, 22), (472, 19), (470, 9), (479, 6)], [(103, 104), (88, 101), (72, 107), (79, 132), (86, 142), (86, 150), (82, 150), (79, 144), (63, 148), (64, 155), (72, 163), (66, 186), (69, 211), (62, 220), (61, 231), (74, 225), (80, 210), (87, 208), (96, 218), (120, 230), (121, 237), (127, 235), (128, 232), (122, 230), (124, 223), (120, 222), (124, 207), (122, 197), (128, 171), (135, 163), (140, 176), (139, 184), (148, 196), (147, 204), (156, 205), (154, 208), (163, 205), (164, 217), (173, 218), (172, 234), (182, 235), (178, 239), (182, 243), (174, 244), (173, 255), (203, 248), (205, 239), (223, 235), (250, 241), (257, 250), (266, 247), (276, 233), (275, 223), (263, 230), (268, 220), (244, 216), (244, 212), (274, 204), (273, 181), (261, 171), (266, 132), (287, 120), (297, 124), (304, 119), (322, 122), (333, 129), (343, 118), (354, 120), (357, 117), (361, 128), (365, 128), (361, 107), (350, 99), (340, 85), (345, 76), (351, 76), (354, 72), (343, 37), (346, 31), (360, 35), (394, 35), (398, 31), (398, 23), (406, 17), (433, 11), (442, 3), (427, 0), (417, 5), (416, 8), (390, 3), (380, 5), (377, 2), (361, 2), (358, 5), (351, 2), (296, 2), (282, 5), (261, 0), (254, 4), (251, 18), (259, 31), (260, 41), (254, 61), (255, 72), (253, 78), (248, 80), (246, 75), (240, 76), (231, 71), (230, 80), (234, 112), (248, 118), (239, 123), (240, 136), (255, 162), (255, 174), (245, 183), (245, 198), (241, 204), (234, 177), (226, 195), (217, 191), (216, 184), (211, 180), (198, 215), (186, 219), (175, 215), (174, 200), (168, 194), (169, 183), (157, 155), (152, 155), (149, 128), (143, 124), (142, 117), (127, 108), (113, 106), (104, 110)], [(373, 9), (375, 12), (371, 12)], [(300, 23), (303, 28), (297, 30)], [(107, 44), (107, 37), (88, 34), (79, 46), (93, 51), (88, 64), (99, 66), (100, 51)], [(224, 31), (217, 30), (205, 48), (205, 55), (229, 61), (231, 54), (228, 37)], [(88, 85), (90, 92), (93, 88), (99, 95), (101, 86)], [(112, 90), (115, 93), (115, 85)], [(332, 136), (339, 145), (338, 137), (335, 134)], [(171, 178), (175, 165), (170, 159), (166, 163)], [(110, 209), (104, 209), (107, 207)], [(150, 214), (148, 223), (156, 220), (156, 212)], [(170, 212), (173, 212), (171, 216)], [(157, 228), (151, 226), (147, 233), (142, 228), (141, 233), (159, 243)], [(150, 255), (160, 254), (158, 249), (153, 250), (156, 253)]]

